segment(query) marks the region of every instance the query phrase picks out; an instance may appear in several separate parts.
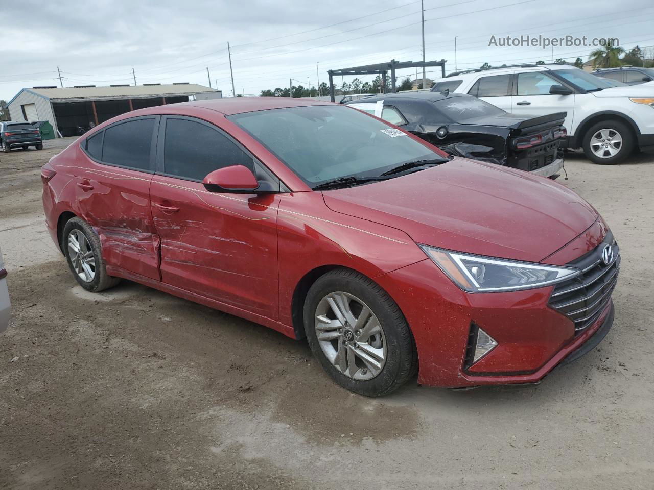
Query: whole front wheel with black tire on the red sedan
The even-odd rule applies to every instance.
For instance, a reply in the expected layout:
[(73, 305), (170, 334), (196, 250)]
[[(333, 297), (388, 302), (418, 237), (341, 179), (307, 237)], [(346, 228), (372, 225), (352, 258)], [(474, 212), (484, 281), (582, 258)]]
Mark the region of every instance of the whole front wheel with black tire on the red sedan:
[(304, 302), (309, 346), (337, 384), (381, 397), (413, 374), (417, 353), (404, 315), (378, 284), (336, 269), (311, 286)]

